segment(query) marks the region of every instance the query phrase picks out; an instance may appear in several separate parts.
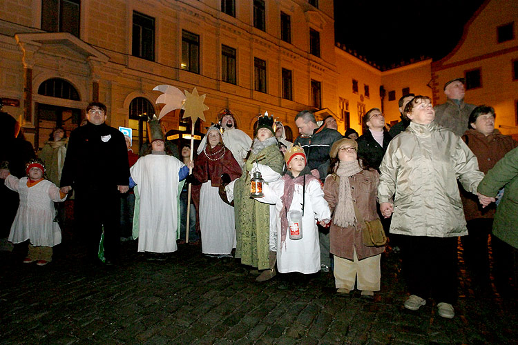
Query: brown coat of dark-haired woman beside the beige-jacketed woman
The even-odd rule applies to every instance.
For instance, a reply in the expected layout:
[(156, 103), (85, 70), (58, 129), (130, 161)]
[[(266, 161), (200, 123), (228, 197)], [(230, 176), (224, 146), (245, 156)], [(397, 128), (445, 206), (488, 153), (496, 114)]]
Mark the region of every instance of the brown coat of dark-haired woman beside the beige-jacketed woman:
[[(497, 129), (487, 137), (477, 130), (470, 129), (464, 133), (462, 139), (477, 156), (479, 170), (484, 174), (487, 174), (507, 152), (518, 146), (517, 141), (509, 135), (502, 135)], [(477, 195), (468, 193), (466, 190), (462, 190), (461, 198), (466, 220), (495, 217), (494, 203), (482, 208)]]

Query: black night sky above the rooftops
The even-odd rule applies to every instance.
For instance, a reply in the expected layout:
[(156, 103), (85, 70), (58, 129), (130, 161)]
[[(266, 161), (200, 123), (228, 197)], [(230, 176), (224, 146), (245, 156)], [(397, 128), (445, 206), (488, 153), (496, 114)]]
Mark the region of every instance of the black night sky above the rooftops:
[(334, 0), (335, 39), (380, 66), (441, 59), (483, 0)]

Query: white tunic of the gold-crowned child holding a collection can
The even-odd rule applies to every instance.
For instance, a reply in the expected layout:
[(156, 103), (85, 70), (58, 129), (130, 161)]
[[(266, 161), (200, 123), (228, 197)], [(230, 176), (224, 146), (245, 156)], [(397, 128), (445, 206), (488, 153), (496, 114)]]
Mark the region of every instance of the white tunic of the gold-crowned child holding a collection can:
[[(284, 180), (280, 179), (271, 184), (263, 184), (262, 193), (265, 197), (258, 201), (276, 205), (277, 215), (277, 269), (280, 273), (300, 272), (305, 274), (317, 273), (320, 270), (320, 246), (318, 243), (318, 228), (316, 219), (329, 220), (331, 212), (324, 199), (324, 191), (320, 182), (307, 182), (305, 188), (305, 203), (303, 217), (303, 238), (289, 239), (289, 230), (286, 233), (286, 242), (281, 246), (280, 212), (284, 194)], [(303, 186), (295, 185), (290, 210), (302, 211)]]

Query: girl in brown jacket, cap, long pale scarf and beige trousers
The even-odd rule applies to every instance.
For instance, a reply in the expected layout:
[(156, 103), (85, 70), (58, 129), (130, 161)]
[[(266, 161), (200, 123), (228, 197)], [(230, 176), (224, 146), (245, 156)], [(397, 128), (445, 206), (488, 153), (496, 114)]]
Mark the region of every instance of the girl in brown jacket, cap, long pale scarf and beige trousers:
[(380, 259), (385, 247), (363, 244), (363, 221), (358, 216), (365, 221), (379, 219), (376, 212), (379, 175), (374, 169), (362, 168), (357, 150), (356, 141), (344, 138), (336, 141), (329, 152), (332, 175), (327, 176), (324, 186), (324, 197), (333, 214), (329, 252), (334, 255), (338, 293), (349, 293), (356, 283), (363, 296), (372, 297), (380, 289)]

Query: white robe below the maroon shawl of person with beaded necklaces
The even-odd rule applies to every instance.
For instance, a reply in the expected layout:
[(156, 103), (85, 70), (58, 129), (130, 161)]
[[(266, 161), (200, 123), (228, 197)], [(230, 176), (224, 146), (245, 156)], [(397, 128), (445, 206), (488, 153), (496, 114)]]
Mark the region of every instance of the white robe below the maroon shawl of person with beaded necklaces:
[(211, 181), (202, 184), (200, 190), (200, 230), (202, 231), (202, 253), (230, 254), (236, 248), (236, 226), (234, 208), (225, 204), (218, 187)]

